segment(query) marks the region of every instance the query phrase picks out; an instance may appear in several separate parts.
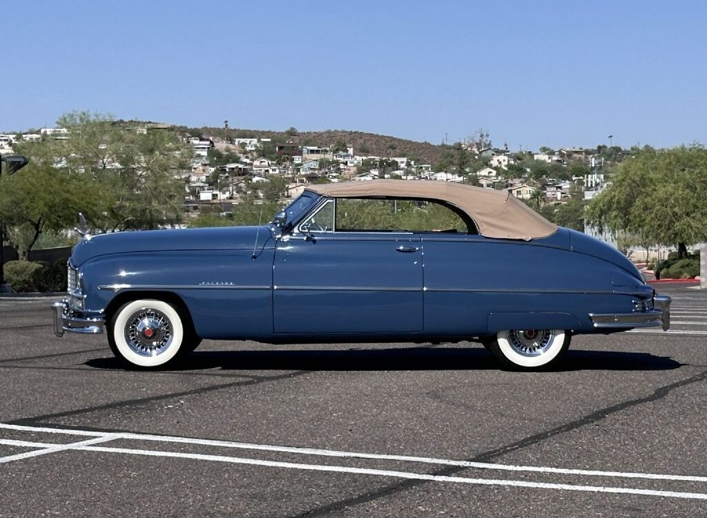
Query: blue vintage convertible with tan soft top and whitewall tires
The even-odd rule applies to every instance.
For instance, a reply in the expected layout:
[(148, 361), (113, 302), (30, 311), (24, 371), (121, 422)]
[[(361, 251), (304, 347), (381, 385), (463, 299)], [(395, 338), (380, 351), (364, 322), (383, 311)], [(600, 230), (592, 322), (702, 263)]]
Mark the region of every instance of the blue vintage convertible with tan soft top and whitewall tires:
[(144, 368), (211, 338), (476, 340), (537, 369), (578, 333), (670, 325), (614, 248), (506, 192), (401, 180), (308, 186), (264, 226), (83, 238), (52, 309), (57, 335), (105, 330)]

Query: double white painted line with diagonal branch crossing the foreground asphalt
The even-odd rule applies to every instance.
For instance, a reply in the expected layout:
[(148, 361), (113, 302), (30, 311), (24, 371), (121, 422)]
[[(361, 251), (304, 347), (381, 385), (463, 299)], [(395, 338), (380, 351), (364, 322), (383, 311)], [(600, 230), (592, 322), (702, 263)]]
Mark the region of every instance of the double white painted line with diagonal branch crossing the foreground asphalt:
[(214, 439), (195, 439), (191, 437), (174, 437), (174, 436), (161, 436), (152, 434), (132, 434), (124, 432), (93, 432), (90, 430), (71, 430), (71, 429), (61, 429), (61, 428), (47, 428), (47, 427), (28, 427), (22, 425), (6, 425), (0, 423), (0, 428), (6, 430), (24, 430), (27, 432), (45, 432), (50, 434), (70, 434), (70, 435), (83, 435), (93, 437), (92, 439), (86, 439), (85, 441), (72, 442), (69, 444), (54, 444), (54, 443), (44, 443), (44, 442), (28, 442), (21, 441), (17, 439), (0, 439), (0, 444), (6, 444), (8, 446), (17, 447), (29, 447), (29, 448), (40, 448), (35, 451), (28, 451), (22, 454), (11, 455), (7, 457), (0, 458), (0, 462), (9, 462), (13, 460), (27, 459), (32, 456), (44, 455), (49, 453), (54, 453), (56, 451), (100, 451), (105, 453), (118, 453), (118, 454), (132, 454), (132, 455), (143, 455), (143, 456), (162, 456), (162, 457), (173, 457), (181, 459), (192, 459), (200, 461), (213, 461), (213, 462), (225, 462), (230, 464), (249, 464), (253, 466), (268, 466), (275, 468), (291, 468), (291, 469), (302, 469), (308, 471), (330, 471), (337, 473), (357, 473), (366, 474), (374, 476), (389, 476), (397, 478), (409, 478), (414, 480), (433, 480), (436, 482), (452, 482), (452, 483), (468, 483), (468, 484), (481, 484), (481, 485), (510, 485), (515, 487), (523, 488), (544, 488), (544, 489), (556, 489), (556, 490), (573, 490), (573, 491), (585, 491), (593, 493), (626, 493), (635, 495), (652, 495), (661, 497), (674, 497), (674, 498), (691, 498), (699, 500), (707, 500), (707, 493), (686, 493), (679, 491), (663, 491), (663, 490), (643, 490), (638, 488), (608, 488), (604, 486), (595, 485), (570, 485), (562, 483), (536, 483), (529, 482), (526, 480), (502, 480), (495, 478), (468, 478), (468, 477), (458, 477), (458, 476), (436, 476), (429, 475), (426, 473), (411, 473), (408, 471), (390, 471), (390, 470), (380, 470), (380, 469), (369, 469), (369, 468), (354, 468), (351, 466), (328, 466), (321, 464), (301, 464), (293, 462), (281, 462), (281, 461), (264, 461), (261, 459), (248, 459), (243, 457), (226, 456), (226, 455), (212, 455), (212, 454), (192, 454), (179, 451), (159, 451), (151, 449), (133, 449), (133, 448), (118, 448), (118, 447), (100, 447), (94, 446), (100, 442), (108, 442), (117, 439), (127, 439), (132, 441), (148, 441), (148, 442), (169, 442), (169, 443), (181, 443), (181, 444), (194, 444), (201, 446), (211, 446), (211, 447), (222, 447), (222, 448), (235, 448), (235, 449), (249, 449), (257, 451), (279, 451), (288, 454), (302, 454), (311, 456), (334, 456), (341, 458), (350, 459), (377, 459), (377, 460), (387, 460), (387, 461), (403, 461), (403, 462), (415, 462), (419, 464), (442, 464), (447, 466), (461, 466), (467, 468), (481, 468), (481, 469), (492, 469), (499, 471), (525, 471), (525, 472), (535, 472), (535, 473), (555, 473), (564, 475), (580, 475), (580, 476), (602, 476), (611, 478), (642, 478), (650, 480), (674, 480), (674, 481), (687, 481), (687, 482), (699, 482), (707, 483), (707, 476), (692, 476), (692, 475), (668, 475), (668, 474), (658, 474), (658, 473), (629, 473), (629, 472), (619, 472), (619, 471), (598, 471), (598, 470), (583, 470), (583, 469), (573, 469), (573, 468), (552, 468), (549, 466), (514, 466), (508, 464), (491, 464), (484, 462), (471, 462), (471, 461), (454, 461), (449, 459), (436, 459), (432, 457), (421, 457), (421, 456), (404, 456), (404, 455), (386, 455), (386, 454), (369, 454), (354, 451), (337, 451), (337, 450), (327, 450), (327, 449), (312, 449), (312, 448), (298, 448), (298, 447), (286, 447), (286, 446), (276, 446), (269, 444), (252, 444), (245, 442), (230, 442), (230, 441), (219, 441)]

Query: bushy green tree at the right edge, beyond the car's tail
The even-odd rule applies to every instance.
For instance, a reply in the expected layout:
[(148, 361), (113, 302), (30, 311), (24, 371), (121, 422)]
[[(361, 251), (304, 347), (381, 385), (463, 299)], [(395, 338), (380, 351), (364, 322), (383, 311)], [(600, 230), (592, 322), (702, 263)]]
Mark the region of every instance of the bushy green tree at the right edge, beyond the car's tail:
[(595, 196), (588, 221), (643, 243), (687, 246), (707, 240), (707, 149), (699, 144), (640, 149), (619, 163), (612, 183)]

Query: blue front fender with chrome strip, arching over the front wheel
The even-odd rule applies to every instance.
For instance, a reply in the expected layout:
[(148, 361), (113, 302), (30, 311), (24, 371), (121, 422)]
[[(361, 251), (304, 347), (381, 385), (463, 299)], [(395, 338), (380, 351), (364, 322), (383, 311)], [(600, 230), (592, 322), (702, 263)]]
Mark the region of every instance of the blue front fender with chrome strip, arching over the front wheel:
[(85, 309), (107, 313), (115, 297), (129, 293), (174, 294), (202, 338), (267, 338), (272, 333), (273, 256), (272, 249), (255, 258), (248, 250), (100, 256), (79, 269)]

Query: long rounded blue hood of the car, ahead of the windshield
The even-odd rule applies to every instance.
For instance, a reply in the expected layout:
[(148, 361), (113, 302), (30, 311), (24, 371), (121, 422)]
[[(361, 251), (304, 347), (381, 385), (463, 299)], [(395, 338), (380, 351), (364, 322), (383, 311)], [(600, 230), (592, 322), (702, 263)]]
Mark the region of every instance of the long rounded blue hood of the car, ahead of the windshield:
[(267, 226), (115, 232), (83, 238), (71, 254), (71, 264), (80, 266), (91, 258), (116, 253), (262, 250), (273, 246), (274, 239)]

